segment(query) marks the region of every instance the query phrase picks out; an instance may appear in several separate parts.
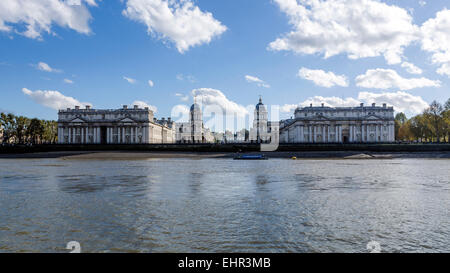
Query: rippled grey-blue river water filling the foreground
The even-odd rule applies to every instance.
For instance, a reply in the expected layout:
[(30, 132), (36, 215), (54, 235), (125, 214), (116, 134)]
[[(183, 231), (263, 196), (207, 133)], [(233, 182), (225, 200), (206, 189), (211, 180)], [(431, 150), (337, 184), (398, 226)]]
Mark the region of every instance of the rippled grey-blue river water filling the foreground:
[(0, 159), (0, 252), (449, 252), (449, 176), (432, 159)]

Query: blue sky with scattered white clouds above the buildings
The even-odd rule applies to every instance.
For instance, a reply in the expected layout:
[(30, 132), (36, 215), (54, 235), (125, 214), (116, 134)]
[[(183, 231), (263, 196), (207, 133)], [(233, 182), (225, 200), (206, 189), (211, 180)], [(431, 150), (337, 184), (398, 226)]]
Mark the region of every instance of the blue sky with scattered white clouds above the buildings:
[[(64, 5), (74, 3), (67, 1), (5, 2), (0, 110), (29, 117), (56, 119), (55, 105), (73, 100), (94, 108), (140, 101), (167, 117), (175, 105), (192, 103), (193, 95), (230, 111), (254, 105), (262, 95), (266, 104), (282, 107), (281, 117), (299, 104), (321, 102), (387, 102), (411, 116), (432, 100), (450, 97), (450, 12), (444, 1), (78, 0), (71, 13)], [(51, 6), (51, 14), (33, 10), (36, 3)], [(340, 4), (337, 15), (330, 13)], [(169, 8), (173, 16), (145, 13), (152, 7)], [(349, 22), (345, 14), (356, 8), (374, 20)], [(398, 35), (378, 25), (383, 20)], [(332, 39), (337, 31), (330, 32), (330, 25), (353, 34), (345, 42)], [(180, 34), (183, 27), (187, 33)], [(367, 37), (358, 34), (360, 27)], [(277, 39), (282, 43), (274, 45)], [(186, 41), (191, 45), (180, 48)], [(399, 48), (401, 53), (386, 57)], [(421, 71), (408, 72), (407, 64)]]

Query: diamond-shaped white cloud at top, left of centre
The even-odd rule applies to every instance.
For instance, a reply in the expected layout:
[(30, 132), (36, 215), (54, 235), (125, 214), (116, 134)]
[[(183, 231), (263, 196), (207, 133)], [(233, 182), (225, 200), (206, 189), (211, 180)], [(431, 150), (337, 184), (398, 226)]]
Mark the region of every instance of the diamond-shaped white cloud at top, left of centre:
[(180, 53), (208, 44), (227, 29), (191, 0), (128, 0), (123, 15), (145, 24), (149, 34), (175, 43)]

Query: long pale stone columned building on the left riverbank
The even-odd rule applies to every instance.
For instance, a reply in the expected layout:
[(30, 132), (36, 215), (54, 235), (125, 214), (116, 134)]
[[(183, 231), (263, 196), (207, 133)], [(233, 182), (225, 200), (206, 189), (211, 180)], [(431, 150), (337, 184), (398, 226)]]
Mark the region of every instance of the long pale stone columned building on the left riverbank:
[(96, 110), (86, 106), (58, 112), (60, 144), (156, 144), (174, 143), (173, 122), (157, 120), (149, 108), (123, 106)]

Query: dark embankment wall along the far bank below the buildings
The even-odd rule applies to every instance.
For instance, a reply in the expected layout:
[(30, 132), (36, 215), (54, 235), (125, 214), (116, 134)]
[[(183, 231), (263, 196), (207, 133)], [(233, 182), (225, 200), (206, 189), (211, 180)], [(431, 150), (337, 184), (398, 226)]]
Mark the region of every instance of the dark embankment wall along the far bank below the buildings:
[[(235, 153), (260, 153), (259, 144), (147, 144), (147, 145), (14, 145), (0, 146), (0, 158), (46, 158), (113, 153), (119, 157), (231, 157)], [(139, 155), (140, 154), (140, 155)], [(450, 158), (450, 144), (280, 144), (269, 157), (343, 158), (360, 154), (374, 157)], [(128, 157), (128, 156), (127, 156)]]

